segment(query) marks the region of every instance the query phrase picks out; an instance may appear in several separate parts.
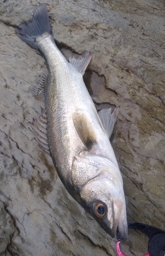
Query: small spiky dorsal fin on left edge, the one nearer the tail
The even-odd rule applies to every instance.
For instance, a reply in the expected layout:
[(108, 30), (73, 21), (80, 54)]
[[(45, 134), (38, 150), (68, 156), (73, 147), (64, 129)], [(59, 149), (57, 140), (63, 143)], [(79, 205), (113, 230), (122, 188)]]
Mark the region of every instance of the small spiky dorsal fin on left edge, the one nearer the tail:
[(44, 91), (48, 70), (44, 70), (39, 77), (35, 80), (36, 85), (30, 86), (29, 91), (37, 98), (44, 102)]

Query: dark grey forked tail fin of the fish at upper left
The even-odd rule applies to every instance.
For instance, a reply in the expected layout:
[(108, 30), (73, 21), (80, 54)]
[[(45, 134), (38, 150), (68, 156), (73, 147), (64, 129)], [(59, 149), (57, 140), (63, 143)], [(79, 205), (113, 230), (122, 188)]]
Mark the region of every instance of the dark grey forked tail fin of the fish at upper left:
[(45, 32), (51, 34), (53, 39), (49, 15), (45, 4), (41, 4), (36, 8), (32, 20), (21, 23), (15, 30), (15, 33), (22, 41), (27, 42), (27, 44), (38, 50), (39, 46), (36, 42), (36, 38)]

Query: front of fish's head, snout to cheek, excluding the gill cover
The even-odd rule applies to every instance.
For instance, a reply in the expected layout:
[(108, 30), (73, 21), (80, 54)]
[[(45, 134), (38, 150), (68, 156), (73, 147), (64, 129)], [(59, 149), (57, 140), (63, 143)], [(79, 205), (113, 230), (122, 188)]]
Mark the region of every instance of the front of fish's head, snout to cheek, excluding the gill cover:
[(104, 175), (87, 182), (80, 191), (87, 211), (112, 237), (119, 230), (121, 240), (127, 240), (125, 199), (121, 189)]

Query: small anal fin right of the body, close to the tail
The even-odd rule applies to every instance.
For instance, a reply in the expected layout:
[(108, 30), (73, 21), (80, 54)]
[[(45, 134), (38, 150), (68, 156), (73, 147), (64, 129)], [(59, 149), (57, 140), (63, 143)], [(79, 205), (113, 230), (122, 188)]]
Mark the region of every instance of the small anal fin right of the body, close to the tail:
[(80, 58), (69, 57), (69, 62), (74, 66), (74, 68), (79, 71), (82, 75), (84, 75), (85, 70), (92, 58), (89, 50), (84, 52)]

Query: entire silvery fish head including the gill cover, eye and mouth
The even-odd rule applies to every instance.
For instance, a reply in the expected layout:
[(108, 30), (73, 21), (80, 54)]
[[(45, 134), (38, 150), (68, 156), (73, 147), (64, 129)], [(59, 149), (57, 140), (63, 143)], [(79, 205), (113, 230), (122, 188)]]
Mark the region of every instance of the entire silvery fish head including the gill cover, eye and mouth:
[(127, 240), (126, 204), (119, 168), (97, 155), (79, 156), (74, 166), (79, 173), (77, 180), (73, 175), (79, 187), (78, 202), (112, 238), (119, 230), (121, 240)]

